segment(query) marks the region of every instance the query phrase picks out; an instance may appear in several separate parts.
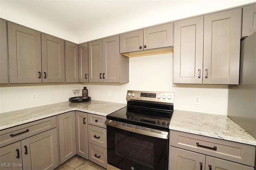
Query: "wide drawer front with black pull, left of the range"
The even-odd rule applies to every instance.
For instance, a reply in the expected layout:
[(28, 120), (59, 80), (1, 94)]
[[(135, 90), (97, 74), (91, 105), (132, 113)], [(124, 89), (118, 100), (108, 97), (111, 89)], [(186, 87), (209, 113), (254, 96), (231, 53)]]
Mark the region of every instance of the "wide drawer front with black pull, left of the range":
[(0, 131), (0, 147), (56, 127), (56, 117), (26, 123)]

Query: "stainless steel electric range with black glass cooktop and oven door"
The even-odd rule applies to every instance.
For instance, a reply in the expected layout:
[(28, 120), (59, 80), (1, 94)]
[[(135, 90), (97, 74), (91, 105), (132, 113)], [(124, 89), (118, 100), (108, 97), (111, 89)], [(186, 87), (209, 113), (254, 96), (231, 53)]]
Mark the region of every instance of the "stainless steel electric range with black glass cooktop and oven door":
[(126, 100), (106, 116), (108, 167), (167, 170), (174, 93), (128, 91)]

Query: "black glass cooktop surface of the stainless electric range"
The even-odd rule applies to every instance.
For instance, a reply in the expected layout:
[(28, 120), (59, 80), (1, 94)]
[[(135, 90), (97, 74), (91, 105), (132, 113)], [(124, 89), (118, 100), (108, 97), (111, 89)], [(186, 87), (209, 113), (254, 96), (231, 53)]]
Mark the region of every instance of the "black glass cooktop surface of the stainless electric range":
[(173, 106), (148, 105), (138, 102), (128, 102), (127, 104), (127, 107), (107, 115), (106, 118), (132, 125), (168, 130)]

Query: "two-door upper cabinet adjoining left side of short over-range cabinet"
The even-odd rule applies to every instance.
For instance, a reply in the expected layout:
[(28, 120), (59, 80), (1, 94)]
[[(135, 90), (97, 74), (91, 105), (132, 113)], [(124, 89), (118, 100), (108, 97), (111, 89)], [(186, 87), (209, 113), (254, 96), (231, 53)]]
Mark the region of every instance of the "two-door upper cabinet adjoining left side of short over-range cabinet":
[(119, 36), (89, 42), (89, 82), (128, 83), (129, 59), (119, 44)]

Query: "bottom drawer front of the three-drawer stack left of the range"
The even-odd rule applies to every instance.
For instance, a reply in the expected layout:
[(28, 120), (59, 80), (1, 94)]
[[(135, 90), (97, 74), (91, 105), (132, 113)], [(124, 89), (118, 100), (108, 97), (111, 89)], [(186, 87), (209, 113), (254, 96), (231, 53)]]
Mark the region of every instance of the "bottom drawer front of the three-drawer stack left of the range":
[(107, 150), (89, 143), (89, 160), (107, 168)]

